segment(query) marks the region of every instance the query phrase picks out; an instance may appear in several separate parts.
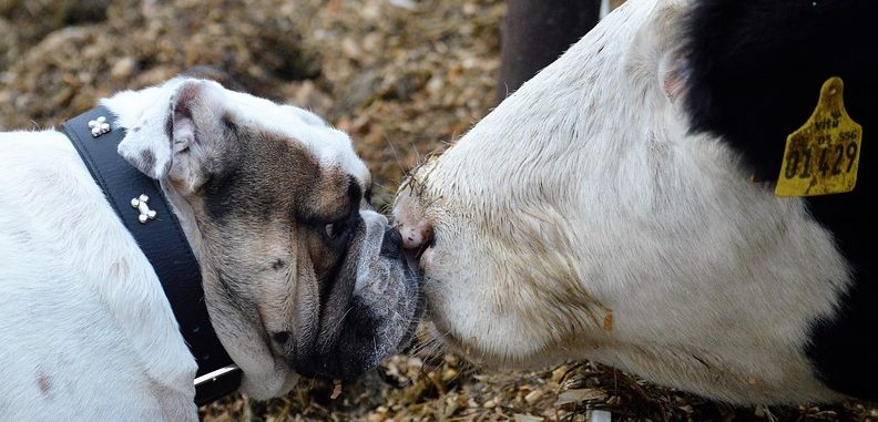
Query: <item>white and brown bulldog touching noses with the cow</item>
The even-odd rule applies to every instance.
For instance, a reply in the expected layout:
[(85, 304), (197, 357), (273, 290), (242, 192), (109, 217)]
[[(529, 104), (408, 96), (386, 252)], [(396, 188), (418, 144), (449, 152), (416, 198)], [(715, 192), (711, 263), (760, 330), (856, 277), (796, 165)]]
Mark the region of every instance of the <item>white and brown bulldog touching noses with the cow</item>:
[[(124, 131), (118, 154), (161, 183), (243, 393), (349, 380), (408, 341), (418, 278), (345, 133), (193, 78), (101, 104), (115, 123), (94, 135)], [(3, 419), (197, 420), (196, 360), (71, 141), (0, 133), (0, 162)]]

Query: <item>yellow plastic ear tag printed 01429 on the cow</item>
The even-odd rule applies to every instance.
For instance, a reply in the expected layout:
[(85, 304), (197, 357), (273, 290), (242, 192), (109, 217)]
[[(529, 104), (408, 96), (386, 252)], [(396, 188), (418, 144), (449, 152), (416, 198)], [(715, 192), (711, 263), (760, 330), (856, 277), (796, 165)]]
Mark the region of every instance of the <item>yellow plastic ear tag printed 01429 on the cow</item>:
[(857, 184), (862, 127), (845, 110), (838, 76), (820, 89), (820, 100), (805, 125), (787, 136), (778, 196), (841, 194)]

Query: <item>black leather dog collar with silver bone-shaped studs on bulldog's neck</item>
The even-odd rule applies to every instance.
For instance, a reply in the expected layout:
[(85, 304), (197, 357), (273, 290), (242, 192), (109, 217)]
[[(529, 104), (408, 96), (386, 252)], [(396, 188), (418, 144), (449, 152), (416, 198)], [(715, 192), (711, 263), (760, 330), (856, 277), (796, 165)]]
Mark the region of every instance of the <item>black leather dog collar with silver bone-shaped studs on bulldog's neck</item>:
[(99, 106), (64, 122), (61, 131), (76, 147), (106, 200), (159, 276), (183, 339), (198, 363), (195, 403), (202, 405), (237, 390), (241, 370), (211, 325), (198, 263), (180, 223), (159, 183), (116, 152), (125, 130), (113, 127), (113, 120), (110, 110)]

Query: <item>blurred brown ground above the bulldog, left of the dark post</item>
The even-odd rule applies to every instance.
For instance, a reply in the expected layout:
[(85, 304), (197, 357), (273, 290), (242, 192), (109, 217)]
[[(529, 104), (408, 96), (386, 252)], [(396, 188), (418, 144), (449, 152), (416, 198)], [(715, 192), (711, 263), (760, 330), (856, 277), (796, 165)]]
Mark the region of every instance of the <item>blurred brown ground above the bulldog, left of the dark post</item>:
[(494, 100), (502, 1), (0, 0), (0, 127), (60, 124), (191, 66), (350, 133), (391, 200)]

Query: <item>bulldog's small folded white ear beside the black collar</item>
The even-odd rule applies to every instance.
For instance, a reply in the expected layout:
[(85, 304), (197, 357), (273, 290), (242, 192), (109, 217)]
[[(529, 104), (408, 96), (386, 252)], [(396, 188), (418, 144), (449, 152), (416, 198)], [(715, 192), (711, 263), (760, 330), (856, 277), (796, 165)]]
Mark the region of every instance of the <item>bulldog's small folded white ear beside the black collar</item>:
[[(215, 82), (185, 80), (127, 128), (119, 154), (143, 174), (170, 179), (182, 194), (201, 187), (225, 143), (225, 91)], [(170, 97), (169, 102), (165, 102)]]

